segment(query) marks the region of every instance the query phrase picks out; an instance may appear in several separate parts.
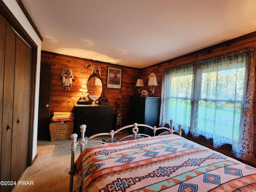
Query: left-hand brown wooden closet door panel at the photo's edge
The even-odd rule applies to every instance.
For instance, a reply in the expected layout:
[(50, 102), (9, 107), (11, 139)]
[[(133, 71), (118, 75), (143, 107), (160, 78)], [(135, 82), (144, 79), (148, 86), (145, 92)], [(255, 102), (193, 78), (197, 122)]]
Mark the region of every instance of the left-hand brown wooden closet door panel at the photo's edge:
[[(12, 153), (12, 115), (13, 115), (13, 94), (14, 94), (14, 62), (15, 62), (15, 39), (16, 34), (11, 26), (2, 20), (1, 26), (6, 26), (4, 60), (4, 83), (1, 91), (2, 97), (2, 144), (1, 144), (1, 171), (0, 180), (10, 181), (11, 153)], [(5, 35), (7, 34), (7, 35)], [(3, 39), (2, 39), (3, 40)], [(2, 44), (2, 42), (1, 42)], [(10, 186), (0, 186), (0, 191), (10, 191)]]

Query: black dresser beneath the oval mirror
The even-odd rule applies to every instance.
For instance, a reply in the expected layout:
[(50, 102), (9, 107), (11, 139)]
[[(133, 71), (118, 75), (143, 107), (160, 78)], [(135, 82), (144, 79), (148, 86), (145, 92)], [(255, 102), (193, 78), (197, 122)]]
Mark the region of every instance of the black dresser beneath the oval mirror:
[(112, 130), (113, 106), (79, 105), (76, 104), (76, 134), (80, 133), (80, 126), (87, 126), (85, 136)]

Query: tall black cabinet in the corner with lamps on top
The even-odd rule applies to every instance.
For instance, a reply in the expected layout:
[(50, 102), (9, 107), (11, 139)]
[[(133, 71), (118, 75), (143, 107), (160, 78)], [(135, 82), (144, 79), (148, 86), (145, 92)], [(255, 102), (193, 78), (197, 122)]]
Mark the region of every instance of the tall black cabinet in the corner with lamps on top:
[[(159, 126), (160, 97), (130, 96), (130, 124), (139, 123), (150, 126)], [(140, 130), (140, 129), (139, 129)], [(152, 134), (152, 130), (142, 130)]]

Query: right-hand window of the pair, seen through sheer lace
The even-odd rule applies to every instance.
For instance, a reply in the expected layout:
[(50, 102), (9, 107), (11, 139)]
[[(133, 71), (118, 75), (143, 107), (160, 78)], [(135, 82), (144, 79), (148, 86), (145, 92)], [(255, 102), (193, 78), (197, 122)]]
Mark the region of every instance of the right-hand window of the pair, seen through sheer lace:
[[(198, 102), (197, 136), (215, 138), (215, 146), (238, 142), (238, 133), (244, 98), (245, 62), (237, 60), (230, 64), (213, 64), (196, 70), (200, 79), (195, 82), (200, 86), (196, 92)], [(218, 138), (218, 139), (217, 139)], [(218, 141), (217, 141), (218, 140)]]

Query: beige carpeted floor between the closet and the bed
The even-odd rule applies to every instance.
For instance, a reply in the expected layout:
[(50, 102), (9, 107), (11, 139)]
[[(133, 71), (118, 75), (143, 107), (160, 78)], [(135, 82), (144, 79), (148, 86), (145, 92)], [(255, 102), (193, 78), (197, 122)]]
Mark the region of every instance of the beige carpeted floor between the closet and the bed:
[[(128, 133), (117, 134), (124, 136)], [(102, 136), (97, 140), (102, 140)], [(71, 159), (71, 141), (42, 141), (38, 140), (38, 156), (32, 166), (28, 167), (20, 177), (19, 181), (25, 181), (32, 185), (18, 185), (12, 192), (68, 192)], [(77, 146), (75, 159), (79, 156), (80, 148)], [(74, 184), (76, 183), (74, 177)]]

